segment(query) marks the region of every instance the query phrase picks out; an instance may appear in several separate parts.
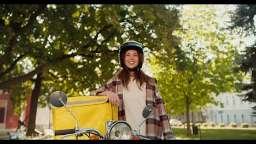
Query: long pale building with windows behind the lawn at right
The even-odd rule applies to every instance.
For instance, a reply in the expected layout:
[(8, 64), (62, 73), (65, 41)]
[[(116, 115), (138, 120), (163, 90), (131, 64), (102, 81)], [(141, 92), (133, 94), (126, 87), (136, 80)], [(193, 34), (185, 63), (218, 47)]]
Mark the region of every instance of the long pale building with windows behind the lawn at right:
[[(220, 105), (210, 105), (209, 108), (202, 108), (199, 112), (189, 113), (190, 122), (214, 122), (215, 124), (225, 123), (249, 123), (256, 124), (256, 117), (253, 117), (252, 107), (255, 103), (249, 103), (248, 101), (242, 101), (241, 97), (238, 97), (238, 93), (222, 93), (216, 97), (216, 94), (212, 94), (216, 101), (221, 101), (224, 107)], [(193, 116), (192, 116), (193, 114)], [(187, 123), (185, 114), (171, 116), (171, 119), (178, 119), (183, 123)]]

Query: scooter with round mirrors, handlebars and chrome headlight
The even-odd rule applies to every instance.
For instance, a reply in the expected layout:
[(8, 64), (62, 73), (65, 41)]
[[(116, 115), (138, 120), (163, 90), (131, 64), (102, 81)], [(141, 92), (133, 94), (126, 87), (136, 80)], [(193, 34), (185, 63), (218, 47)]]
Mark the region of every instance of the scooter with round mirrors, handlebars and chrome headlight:
[(105, 122), (106, 134), (94, 128), (78, 127), (78, 119), (67, 107), (67, 95), (61, 91), (53, 92), (50, 95), (50, 103), (55, 107), (65, 106), (75, 119), (74, 129), (55, 130), (55, 135), (63, 135), (61, 139), (75, 135), (76, 139), (80, 136), (88, 136), (90, 140), (149, 140), (147, 136), (140, 134), (140, 127), (153, 113), (153, 106), (146, 105), (143, 109), (143, 121), (139, 124), (138, 130), (132, 130), (131, 125), (126, 121), (107, 121)]

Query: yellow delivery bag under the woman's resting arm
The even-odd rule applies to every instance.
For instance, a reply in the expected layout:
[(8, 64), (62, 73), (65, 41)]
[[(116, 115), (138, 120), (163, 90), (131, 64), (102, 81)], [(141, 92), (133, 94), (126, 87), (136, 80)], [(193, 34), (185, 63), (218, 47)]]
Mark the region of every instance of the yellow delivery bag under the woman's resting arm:
[[(51, 106), (54, 131), (75, 128), (75, 119), (65, 106)], [(68, 97), (66, 106), (77, 117), (78, 127), (97, 129), (103, 136), (106, 134), (105, 122), (118, 120), (118, 106), (112, 106), (106, 95)], [(60, 140), (61, 136), (54, 135), (54, 140)], [(62, 140), (64, 139), (75, 140), (76, 138), (75, 136), (68, 136)], [(89, 138), (84, 135), (78, 139), (86, 140)]]

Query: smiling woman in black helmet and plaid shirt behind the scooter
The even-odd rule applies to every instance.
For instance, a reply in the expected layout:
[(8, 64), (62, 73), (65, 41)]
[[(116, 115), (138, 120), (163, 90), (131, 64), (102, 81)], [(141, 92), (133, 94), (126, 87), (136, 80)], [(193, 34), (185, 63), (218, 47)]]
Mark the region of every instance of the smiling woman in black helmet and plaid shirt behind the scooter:
[(120, 47), (119, 60), (123, 69), (90, 95), (107, 95), (112, 105), (118, 105), (119, 120), (128, 122), (136, 130), (142, 122), (144, 106), (153, 105), (154, 113), (141, 125), (141, 134), (149, 139), (175, 139), (157, 81), (141, 70), (144, 62), (142, 45), (127, 41)]

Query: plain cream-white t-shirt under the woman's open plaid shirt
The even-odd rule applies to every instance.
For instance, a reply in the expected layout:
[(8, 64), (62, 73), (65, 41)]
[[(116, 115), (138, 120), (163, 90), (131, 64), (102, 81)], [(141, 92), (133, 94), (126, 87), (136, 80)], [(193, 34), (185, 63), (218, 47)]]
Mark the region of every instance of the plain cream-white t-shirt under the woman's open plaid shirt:
[[(128, 88), (123, 88), (123, 101), (125, 106), (126, 122), (132, 127), (132, 130), (138, 131), (138, 126), (144, 120), (142, 111), (146, 106), (146, 83), (143, 83), (141, 89), (138, 88), (136, 79), (130, 77)], [(140, 134), (146, 135), (146, 121), (140, 127)]]

